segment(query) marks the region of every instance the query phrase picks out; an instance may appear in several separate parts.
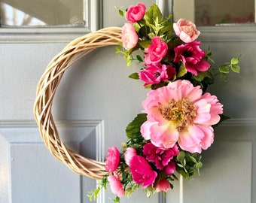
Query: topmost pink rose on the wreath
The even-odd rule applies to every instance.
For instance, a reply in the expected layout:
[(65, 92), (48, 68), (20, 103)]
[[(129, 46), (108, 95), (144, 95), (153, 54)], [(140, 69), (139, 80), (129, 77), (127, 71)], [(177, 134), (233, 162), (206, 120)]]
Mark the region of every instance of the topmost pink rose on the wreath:
[(126, 13), (126, 19), (130, 23), (136, 23), (145, 15), (146, 6), (143, 3), (138, 3), (136, 6), (130, 6)]

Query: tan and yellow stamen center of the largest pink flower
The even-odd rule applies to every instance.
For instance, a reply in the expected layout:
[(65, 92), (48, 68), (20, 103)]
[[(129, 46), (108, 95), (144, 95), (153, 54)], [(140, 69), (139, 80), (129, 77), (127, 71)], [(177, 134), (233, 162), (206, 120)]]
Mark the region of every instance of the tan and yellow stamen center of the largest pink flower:
[(164, 119), (175, 123), (178, 132), (184, 131), (192, 124), (197, 115), (197, 108), (190, 104), (188, 99), (182, 99), (179, 102), (172, 99), (168, 105), (160, 107), (160, 111)]

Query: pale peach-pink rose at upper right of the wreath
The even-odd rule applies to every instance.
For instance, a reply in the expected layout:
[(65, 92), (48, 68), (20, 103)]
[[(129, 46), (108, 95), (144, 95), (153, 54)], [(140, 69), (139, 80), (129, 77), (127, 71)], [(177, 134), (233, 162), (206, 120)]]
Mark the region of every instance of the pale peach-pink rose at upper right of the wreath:
[(194, 23), (189, 20), (180, 19), (177, 23), (173, 23), (175, 34), (185, 43), (195, 41), (200, 35), (200, 31), (196, 29)]

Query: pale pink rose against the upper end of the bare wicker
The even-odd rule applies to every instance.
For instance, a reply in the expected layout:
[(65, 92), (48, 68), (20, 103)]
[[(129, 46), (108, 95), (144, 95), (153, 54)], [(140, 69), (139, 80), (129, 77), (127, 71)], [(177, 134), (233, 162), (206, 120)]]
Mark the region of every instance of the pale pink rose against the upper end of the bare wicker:
[(136, 44), (139, 40), (136, 29), (130, 23), (125, 23), (122, 27), (122, 43), (123, 47), (126, 50), (130, 50), (133, 47), (136, 47)]

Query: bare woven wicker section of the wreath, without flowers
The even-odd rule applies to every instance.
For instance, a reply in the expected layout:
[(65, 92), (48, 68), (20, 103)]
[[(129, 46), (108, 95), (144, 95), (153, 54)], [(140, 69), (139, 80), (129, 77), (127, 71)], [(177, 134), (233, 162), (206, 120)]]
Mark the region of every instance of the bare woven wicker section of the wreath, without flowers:
[(56, 89), (65, 71), (93, 50), (117, 45), (120, 39), (121, 28), (118, 27), (101, 29), (76, 38), (52, 59), (36, 90), (34, 115), (44, 144), (56, 159), (65, 163), (72, 171), (93, 179), (101, 179), (105, 175), (105, 163), (88, 159), (66, 147), (56, 129), (51, 108)]

